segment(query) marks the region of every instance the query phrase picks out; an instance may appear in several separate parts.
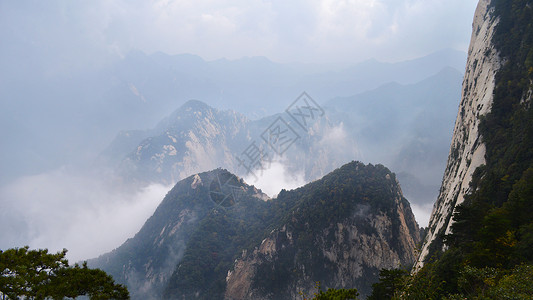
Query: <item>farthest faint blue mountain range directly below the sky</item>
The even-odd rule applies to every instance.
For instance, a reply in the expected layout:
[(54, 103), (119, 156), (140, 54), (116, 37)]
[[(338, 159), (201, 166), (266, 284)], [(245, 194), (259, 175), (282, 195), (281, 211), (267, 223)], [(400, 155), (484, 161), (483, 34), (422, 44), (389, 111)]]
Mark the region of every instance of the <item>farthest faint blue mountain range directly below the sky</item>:
[(190, 99), (257, 119), (282, 112), (302, 91), (324, 103), (388, 82), (413, 84), (444, 67), (463, 70), (465, 60), (465, 53), (454, 50), (400, 63), (342, 66), (280, 64), (263, 57), (204, 61), (134, 51), (66, 73), (50, 71), (41, 65), (45, 61), (6, 61), (0, 74), (0, 169), (7, 171), (0, 174), (0, 185), (64, 164), (85, 166), (120, 130), (151, 128)]

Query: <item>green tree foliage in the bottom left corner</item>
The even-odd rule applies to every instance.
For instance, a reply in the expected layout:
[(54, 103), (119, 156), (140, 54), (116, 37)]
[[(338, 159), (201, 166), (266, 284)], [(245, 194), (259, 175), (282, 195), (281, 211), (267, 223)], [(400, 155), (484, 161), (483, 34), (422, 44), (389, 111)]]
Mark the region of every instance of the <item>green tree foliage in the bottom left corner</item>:
[(69, 267), (67, 251), (56, 254), (29, 247), (0, 251), (0, 295), (8, 299), (129, 299), (128, 290), (87, 264)]

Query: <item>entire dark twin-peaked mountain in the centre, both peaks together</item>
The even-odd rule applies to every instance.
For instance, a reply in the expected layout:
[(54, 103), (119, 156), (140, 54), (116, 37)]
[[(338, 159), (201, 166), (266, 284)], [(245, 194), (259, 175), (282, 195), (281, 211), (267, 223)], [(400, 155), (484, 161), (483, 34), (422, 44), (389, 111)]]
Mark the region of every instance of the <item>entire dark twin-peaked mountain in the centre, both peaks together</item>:
[(351, 162), (269, 199), (216, 169), (176, 184), (142, 229), (89, 261), (134, 299), (295, 299), (367, 294), (379, 269), (409, 267), (420, 230), (395, 175)]

